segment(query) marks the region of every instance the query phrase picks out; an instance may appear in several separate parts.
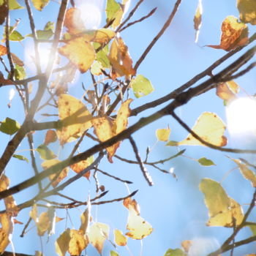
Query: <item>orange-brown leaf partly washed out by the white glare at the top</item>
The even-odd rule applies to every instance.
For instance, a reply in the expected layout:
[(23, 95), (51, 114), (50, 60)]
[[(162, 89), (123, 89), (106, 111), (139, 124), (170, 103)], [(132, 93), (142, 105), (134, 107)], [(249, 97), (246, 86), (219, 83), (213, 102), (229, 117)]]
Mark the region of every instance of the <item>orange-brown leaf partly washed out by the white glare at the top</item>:
[(67, 10), (64, 26), (66, 26), (69, 34), (78, 34), (80, 31), (86, 29), (81, 18), (81, 12), (78, 8), (69, 8), (69, 10)]

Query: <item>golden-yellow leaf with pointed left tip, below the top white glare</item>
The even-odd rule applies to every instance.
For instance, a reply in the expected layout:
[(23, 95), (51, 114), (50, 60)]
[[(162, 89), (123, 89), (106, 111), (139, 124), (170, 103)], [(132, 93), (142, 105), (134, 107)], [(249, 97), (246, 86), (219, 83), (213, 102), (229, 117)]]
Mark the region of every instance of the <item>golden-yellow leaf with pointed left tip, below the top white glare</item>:
[(59, 53), (75, 64), (81, 73), (86, 72), (91, 67), (96, 57), (91, 42), (87, 42), (83, 37), (69, 40), (66, 45), (59, 48)]

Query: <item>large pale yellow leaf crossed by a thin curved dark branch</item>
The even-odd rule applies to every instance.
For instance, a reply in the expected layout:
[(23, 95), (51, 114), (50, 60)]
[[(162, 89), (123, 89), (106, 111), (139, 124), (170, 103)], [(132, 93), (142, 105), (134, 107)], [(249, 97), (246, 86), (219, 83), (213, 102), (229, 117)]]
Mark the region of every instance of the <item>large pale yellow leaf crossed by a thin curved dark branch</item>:
[[(225, 146), (227, 144), (227, 138), (224, 136), (225, 129), (225, 124), (216, 113), (204, 112), (197, 118), (192, 131), (208, 143), (215, 146)], [(186, 139), (181, 140), (178, 145), (204, 146), (191, 134)]]

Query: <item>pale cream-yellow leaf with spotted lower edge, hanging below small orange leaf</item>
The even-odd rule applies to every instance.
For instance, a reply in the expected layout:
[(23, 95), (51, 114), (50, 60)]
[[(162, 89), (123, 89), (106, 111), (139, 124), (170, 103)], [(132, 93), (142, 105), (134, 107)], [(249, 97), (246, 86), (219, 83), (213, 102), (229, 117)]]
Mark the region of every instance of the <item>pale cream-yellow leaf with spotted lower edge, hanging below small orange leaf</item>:
[(153, 228), (145, 219), (137, 214), (132, 206), (129, 206), (127, 230), (129, 230), (129, 232), (126, 233), (127, 236), (132, 239), (140, 240), (149, 236), (152, 233)]

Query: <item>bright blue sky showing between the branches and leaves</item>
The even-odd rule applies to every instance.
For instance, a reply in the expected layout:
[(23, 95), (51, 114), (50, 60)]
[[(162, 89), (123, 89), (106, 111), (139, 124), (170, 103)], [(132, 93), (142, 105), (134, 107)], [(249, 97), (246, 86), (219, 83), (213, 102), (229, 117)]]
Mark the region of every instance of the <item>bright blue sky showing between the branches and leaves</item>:
[[(143, 50), (146, 48), (151, 39), (157, 34), (162, 24), (173, 8), (175, 1), (145, 1), (141, 4), (138, 12), (135, 14), (134, 20), (146, 15), (154, 7), (158, 7), (155, 14), (143, 21), (143, 23), (136, 24), (132, 28), (127, 29), (121, 34), (124, 42), (129, 47), (129, 53), (132, 56), (134, 62), (138, 60)], [(135, 1), (132, 1), (131, 7), (135, 5)], [(23, 1), (20, 1), (23, 4)], [(98, 0), (97, 4), (102, 10), (105, 7), (105, 1)], [(36, 20), (36, 26), (38, 29), (43, 29), (45, 23), (48, 20), (56, 18), (57, 8), (59, 4), (51, 2), (43, 12), (38, 12), (33, 9), (34, 18)], [(131, 8), (130, 7), (130, 8)], [(181, 86), (187, 80), (197, 75), (203, 69), (206, 69), (213, 61), (216, 61), (225, 54), (224, 50), (215, 50), (205, 47), (205, 45), (217, 45), (219, 44), (220, 28), (222, 20), (227, 15), (234, 15), (238, 17), (238, 10), (236, 9), (236, 1), (203, 1), (203, 25), (200, 30), (198, 43), (195, 44), (195, 31), (193, 29), (193, 16), (197, 7), (197, 1), (182, 1), (181, 6), (177, 12), (176, 17), (173, 19), (173, 23), (170, 28), (167, 29), (165, 34), (159, 39), (159, 42), (154, 46), (145, 61), (140, 65), (138, 74), (144, 75), (151, 80), (154, 86), (154, 92), (146, 97), (135, 99), (131, 104), (131, 108), (136, 108), (143, 103), (150, 102), (153, 99), (162, 97), (165, 94), (173, 91), (178, 86)], [(26, 18), (26, 12), (24, 10), (12, 11), (11, 23), (14, 23), (14, 18), (21, 18), (18, 26), (18, 31), (21, 34), (29, 34), (28, 20)], [(102, 23), (105, 23), (103, 15)], [(250, 34), (255, 32), (255, 28), (249, 26)], [(18, 42), (12, 44), (12, 48), (15, 49), (17, 55), (23, 58), (24, 47), (26, 48), (29, 43), (23, 41), (23, 45)], [(243, 53), (243, 50), (241, 53)], [(222, 64), (217, 71), (225, 67), (230, 61), (241, 56), (238, 53), (235, 57), (228, 60), (227, 63)], [(27, 70), (27, 73), (31, 75), (33, 70)], [(252, 70), (246, 76), (238, 78), (236, 82), (241, 86), (248, 94), (255, 94), (255, 70)], [(91, 83), (88, 75), (78, 77), (78, 83), (70, 86), (69, 93), (75, 97), (80, 98), (81, 87), (80, 82), (83, 81), (86, 86)], [(36, 87), (35, 87), (36, 88)], [(1, 111), (0, 118), (3, 120), (7, 116), (14, 118), (22, 123), (23, 112), (20, 112), (21, 103), (18, 99), (18, 95), (12, 101), (12, 108), (8, 109), (8, 94), (10, 87), (6, 86), (1, 88)], [(130, 92), (132, 98), (135, 98)], [(239, 94), (240, 95), (240, 94)], [(244, 93), (241, 91), (241, 95)], [(141, 116), (148, 116), (153, 111), (162, 108), (162, 105), (154, 108), (153, 110), (144, 111)], [(50, 111), (50, 110), (45, 110)], [(211, 111), (217, 113), (224, 121), (225, 106), (222, 99), (219, 99), (215, 91), (209, 91), (206, 94), (192, 99), (187, 105), (176, 110), (178, 116), (184, 119), (187, 124), (192, 126), (198, 116), (204, 111)], [(138, 121), (138, 117), (129, 118), (129, 124), (134, 124)], [(39, 121), (44, 121), (41, 117), (37, 117)], [(46, 120), (45, 120), (46, 121)], [(169, 125), (171, 129), (170, 140), (182, 140), (187, 136), (187, 132), (181, 128), (176, 121), (170, 116), (161, 118), (159, 121), (148, 125), (144, 129), (136, 132), (133, 136), (138, 143), (138, 148), (142, 157), (145, 157), (147, 146), (153, 147), (156, 143), (155, 131), (159, 128), (165, 128)], [(45, 132), (37, 132), (34, 135), (34, 144), (39, 146), (42, 143)], [(228, 146), (239, 147), (252, 147), (255, 143), (255, 137), (253, 135), (241, 135), (239, 138), (229, 138)], [(4, 145), (7, 144), (10, 137), (7, 135), (1, 135), (1, 152), (4, 150)], [(72, 143), (74, 145), (74, 143)], [(88, 148), (91, 142), (86, 140), (81, 146), (80, 151)], [(24, 140), (21, 143), (19, 149), (29, 148)], [(59, 150), (58, 145), (53, 145), (53, 149)], [(167, 162), (164, 165), (166, 170), (170, 167), (174, 168), (177, 180), (172, 176), (167, 176), (159, 171), (148, 167), (148, 171), (154, 180), (154, 186), (148, 187), (144, 180), (140, 169), (136, 165), (128, 165), (115, 159), (114, 164), (110, 164), (106, 161), (102, 162), (99, 167), (102, 170), (109, 173), (120, 176), (121, 178), (134, 181), (134, 184), (129, 186), (129, 190), (133, 191), (139, 189), (135, 199), (140, 204), (141, 216), (145, 218), (154, 227), (154, 232), (151, 236), (143, 239), (143, 256), (164, 255), (168, 248), (177, 248), (181, 246), (181, 241), (194, 239), (195, 244), (205, 246), (209, 251), (216, 249), (222, 241), (230, 235), (232, 230), (225, 227), (206, 227), (205, 223), (208, 219), (208, 211), (203, 203), (203, 195), (198, 189), (198, 184), (201, 178), (208, 177), (216, 181), (222, 182), (222, 186), (225, 187), (227, 194), (233, 197), (238, 203), (241, 203), (246, 209), (246, 204), (250, 202), (253, 189), (250, 187), (249, 182), (241, 178), (241, 174), (238, 170), (234, 170), (228, 173), (235, 165), (221, 152), (213, 151), (205, 147), (181, 147), (180, 149), (187, 148), (185, 156), (178, 157), (177, 159)], [(61, 151), (60, 159), (67, 157), (69, 147), (65, 146)], [(176, 154), (177, 148), (166, 147), (165, 143), (158, 142), (150, 154), (152, 161), (158, 159), (165, 159), (172, 154)], [(21, 153), (20, 153), (21, 154)], [(117, 154), (127, 159), (135, 159), (128, 141), (124, 141), (121, 147), (118, 149)], [(28, 151), (24, 151), (24, 155), (29, 156)], [(230, 157), (235, 157), (232, 154), (228, 154)], [(198, 162), (193, 159), (199, 159), (200, 157), (207, 157), (212, 159), (216, 166), (214, 167), (201, 167)], [(249, 159), (252, 163), (255, 163), (254, 156), (236, 156)], [(41, 160), (38, 157), (37, 164), (40, 165)], [(25, 162), (20, 162), (17, 159), (12, 159), (10, 165), (6, 169), (7, 176), (11, 179), (11, 186), (23, 181), (27, 176), (33, 176), (34, 173), (30, 166)], [(69, 176), (73, 173), (70, 171)], [(99, 181), (104, 184), (107, 190), (110, 190), (107, 199), (113, 199), (114, 197), (121, 197), (127, 195), (127, 187), (124, 184), (113, 182), (110, 178), (99, 175)], [(91, 195), (95, 195), (94, 181), (86, 181), (81, 179), (75, 184), (72, 184), (64, 193), (72, 195), (72, 197), (78, 197), (79, 200), (86, 200), (88, 191)], [(23, 202), (25, 198), (30, 198), (37, 192), (37, 187), (26, 189), (20, 192), (19, 195), (15, 195), (15, 200), (18, 203)], [(58, 200), (57, 197), (53, 197)], [(72, 228), (78, 228), (80, 226), (80, 213), (84, 208), (69, 210), (70, 219), (67, 219), (67, 226)], [(20, 212), (18, 220), (26, 223), (28, 219), (30, 209), (25, 209)], [(255, 213), (253, 213), (255, 216)], [(121, 203), (113, 203), (102, 206), (94, 206), (92, 208), (92, 216), (94, 220), (98, 222), (104, 222), (110, 225), (110, 240), (113, 241), (113, 229), (118, 228), (123, 232), (126, 231), (125, 225), (127, 221), (128, 211)], [(57, 216), (66, 217), (65, 211), (57, 211)], [(54, 255), (54, 241), (58, 238), (59, 233), (64, 230), (66, 221), (57, 223), (56, 235), (51, 236), (47, 242), (47, 238), (43, 237), (43, 249), (45, 255)], [(23, 252), (33, 255), (34, 250), (40, 250), (40, 241), (36, 234), (35, 228), (30, 230), (29, 233), (20, 238), (19, 235), (23, 226), (15, 225), (15, 232), (13, 236), (13, 243), (15, 244), (16, 252)], [(245, 238), (250, 236), (249, 230), (242, 230), (239, 238)], [(140, 241), (128, 242), (129, 250), (132, 255), (140, 255), (141, 244)], [(106, 241), (103, 255), (109, 255), (109, 250), (114, 249), (113, 246)], [(205, 248), (200, 248), (200, 253), (195, 252), (194, 255), (206, 255)], [(249, 244), (236, 249), (236, 255), (242, 255), (246, 253), (255, 252), (255, 245)], [(129, 252), (125, 248), (118, 247), (116, 250), (121, 256), (128, 256)], [(90, 245), (87, 249), (87, 254), (97, 255), (96, 250)], [(190, 255), (190, 256), (194, 256)], [(225, 255), (225, 254), (224, 254)]]

